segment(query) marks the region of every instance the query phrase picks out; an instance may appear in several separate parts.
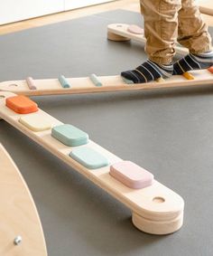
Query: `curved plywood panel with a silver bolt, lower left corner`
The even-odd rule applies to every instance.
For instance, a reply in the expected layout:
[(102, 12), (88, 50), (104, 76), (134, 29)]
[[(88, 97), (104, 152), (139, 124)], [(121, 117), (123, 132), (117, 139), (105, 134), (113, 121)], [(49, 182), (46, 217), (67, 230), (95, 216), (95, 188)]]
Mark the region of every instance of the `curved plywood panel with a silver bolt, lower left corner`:
[(1, 144), (0, 163), (0, 255), (47, 256), (32, 195)]

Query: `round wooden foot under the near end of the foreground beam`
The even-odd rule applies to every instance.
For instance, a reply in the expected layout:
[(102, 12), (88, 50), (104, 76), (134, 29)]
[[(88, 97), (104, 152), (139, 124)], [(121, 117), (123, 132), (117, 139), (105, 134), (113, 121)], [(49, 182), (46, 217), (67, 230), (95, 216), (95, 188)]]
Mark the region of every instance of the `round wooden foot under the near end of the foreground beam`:
[(183, 223), (183, 212), (170, 221), (153, 221), (140, 216), (137, 213), (132, 214), (132, 222), (140, 231), (152, 234), (169, 234), (178, 231)]

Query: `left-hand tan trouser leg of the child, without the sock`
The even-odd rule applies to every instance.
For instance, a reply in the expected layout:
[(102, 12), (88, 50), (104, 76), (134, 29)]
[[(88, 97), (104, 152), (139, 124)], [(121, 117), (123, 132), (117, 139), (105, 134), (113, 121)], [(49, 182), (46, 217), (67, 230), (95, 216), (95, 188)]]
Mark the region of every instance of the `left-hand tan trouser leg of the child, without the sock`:
[(145, 52), (153, 62), (169, 64), (175, 54), (181, 0), (141, 0), (140, 3), (147, 40)]

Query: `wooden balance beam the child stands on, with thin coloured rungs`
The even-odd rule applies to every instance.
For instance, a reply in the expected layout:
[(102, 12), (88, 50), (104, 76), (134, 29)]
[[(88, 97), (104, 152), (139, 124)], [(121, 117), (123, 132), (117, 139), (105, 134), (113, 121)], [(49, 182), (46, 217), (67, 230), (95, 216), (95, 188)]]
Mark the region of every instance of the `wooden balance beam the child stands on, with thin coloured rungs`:
[(213, 74), (208, 70), (190, 71), (194, 80), (187, 80), (182, 75), (157, 82), (127, 84), (121, 76), (99, 76), (97, 77), (101, 86), (96, 86), (88, 77), (67, 78), (69, 88), (63, 88), (58, 79), (33, 80), (36, 90), (31, 90), (26, 81), (3, 81), (0, 82), (1, 91), (11, 91), (15, 94), (26, 96), (54, 95), (54, 94), (79, 94), (122, 90), (154, 90), (174, 87), (196, 87), (201, 85), (212, 85)]

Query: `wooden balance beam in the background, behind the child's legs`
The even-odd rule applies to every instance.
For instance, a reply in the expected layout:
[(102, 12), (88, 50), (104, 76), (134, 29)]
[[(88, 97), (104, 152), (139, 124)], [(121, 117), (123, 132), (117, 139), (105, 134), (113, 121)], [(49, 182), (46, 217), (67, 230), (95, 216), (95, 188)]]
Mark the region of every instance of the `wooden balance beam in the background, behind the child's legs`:
[[(132, 33), (129, 31), (130, 24), (108, 24), (107, 25), (107, 38), (111, 41), (128, 41), (135, 40), (139, 43), (145, 44), (146, 39), (144, 33)], [(187, 48), (182, 47), (177, 43), (175, 51), (181, 55), (185, 55), (189, 52)]]

